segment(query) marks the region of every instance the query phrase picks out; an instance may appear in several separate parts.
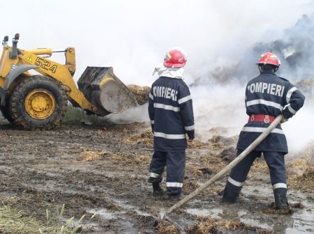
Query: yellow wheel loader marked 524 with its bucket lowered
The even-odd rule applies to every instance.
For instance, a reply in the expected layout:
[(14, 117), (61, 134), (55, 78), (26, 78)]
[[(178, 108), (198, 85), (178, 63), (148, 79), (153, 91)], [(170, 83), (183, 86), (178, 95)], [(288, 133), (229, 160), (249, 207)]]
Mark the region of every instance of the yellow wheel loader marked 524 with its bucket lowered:
[[(135, 96), (112, 68), (87, 67), (77, 88), (73, 47), (24, 50), (17, 48), (19, 38), (20, 34), (15, 34), (12, 47), (8, 36), (3, 38), (0, 61), (0, 108), (13, 125), (26, 130), (52, 129), (61, 124), (68, 101), (98, 116), (137, 106)], [(65, 64), (47, 59), (58, 52), (65, 54)]]

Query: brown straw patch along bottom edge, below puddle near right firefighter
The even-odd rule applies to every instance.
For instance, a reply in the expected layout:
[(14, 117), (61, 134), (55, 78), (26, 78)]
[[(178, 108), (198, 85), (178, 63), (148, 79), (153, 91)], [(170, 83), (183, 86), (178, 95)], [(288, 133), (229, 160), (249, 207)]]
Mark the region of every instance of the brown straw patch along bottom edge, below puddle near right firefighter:
[(225, 233), (224, 230), (247, 230), (255, 231), (256, 233), (267, 234), (271, 233), (269, 231), (264, 231), (262, 228), (255, 228), (252, 226), (247, 226), (246, 224), (240, 221), (225, 221), (221, 219), (214, 219), (210, 217), (198, 218), (200, 219), (199, 223), (187, 226), (184, 231), (188, 234), (220, 234)]

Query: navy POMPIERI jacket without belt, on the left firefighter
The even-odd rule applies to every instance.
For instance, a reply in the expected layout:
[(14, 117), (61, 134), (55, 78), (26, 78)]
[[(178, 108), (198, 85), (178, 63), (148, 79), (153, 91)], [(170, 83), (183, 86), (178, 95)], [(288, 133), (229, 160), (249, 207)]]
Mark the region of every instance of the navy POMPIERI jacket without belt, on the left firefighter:
[(194, 139), (193, 104), (182, 79), (159, 77), (149, 93), (149, 118), (154, 132), (154, 150), (186, 149), (186, 134)]

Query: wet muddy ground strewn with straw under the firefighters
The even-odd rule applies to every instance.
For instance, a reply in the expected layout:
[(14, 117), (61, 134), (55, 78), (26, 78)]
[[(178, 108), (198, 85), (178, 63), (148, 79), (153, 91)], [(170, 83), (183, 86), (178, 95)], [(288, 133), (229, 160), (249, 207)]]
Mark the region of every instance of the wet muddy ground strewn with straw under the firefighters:
[[(214, 136), (189, 146), (185, 194), (223, 169), (234, 155), (236, 141), (237, 137)], [(11, 202), (6, 199), (6, 205), (38, 219), (45, 219), (46, 209), (63, 203), (66, 217), (79, 219), (96, 212), (85, 223), (84, 233), (178, 233), (172, 224), (181, 233), (314, 233), (313, 145), (297, 160), (287, 160), (290, 203), (301, 203), (292, 214), (269, 210), (273, 201), (269, 173), (259, 159), (238, 203), (220, 201), (225, 176), (171, 214), (173, 223), (156, 226), (154, 216), (174, 202), (151, 196), (147, 182), (151, 143), (148, 123), (66, 123), (52, 131), (29, 132), (1, 120), (0, 197), (14, 197)], [(202, 224), (209, 227), (202, 229)]]

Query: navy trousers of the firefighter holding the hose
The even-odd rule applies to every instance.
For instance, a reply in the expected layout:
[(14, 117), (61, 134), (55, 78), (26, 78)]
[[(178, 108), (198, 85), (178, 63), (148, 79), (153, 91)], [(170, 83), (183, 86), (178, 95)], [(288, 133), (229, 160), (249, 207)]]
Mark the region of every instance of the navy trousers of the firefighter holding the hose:
[[(238, 150), (237, 155), (240, 155), (244, 150)], [(257, 151), (253, 150), (239, 164), (234, 166), (230, 172), (230, 176), (227, 180), (228, 186), (225, 191), (227, 196), (231, 199), (237, 198), (239, 192), (248, 176), (248, 171), (257, 157), (263, 153), (264, 159), (269, 167), (269, 174), (271, 179), (271, 185), (273, 189), (285, 188), (287, 189), (287, 182), (285, 177), (285, 153), (276, 151)]]

